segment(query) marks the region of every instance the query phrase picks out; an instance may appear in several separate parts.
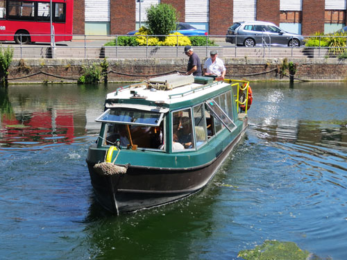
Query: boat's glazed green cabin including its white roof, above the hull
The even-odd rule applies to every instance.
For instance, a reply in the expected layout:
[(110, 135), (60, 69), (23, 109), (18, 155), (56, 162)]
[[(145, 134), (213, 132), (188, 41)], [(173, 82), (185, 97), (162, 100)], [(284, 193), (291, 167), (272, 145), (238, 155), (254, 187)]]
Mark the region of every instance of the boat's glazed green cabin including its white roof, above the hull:
[(107, 95), (98, 147), (182, 153), (237, 127), (232, 87), (178, 74), (121, 87)]

